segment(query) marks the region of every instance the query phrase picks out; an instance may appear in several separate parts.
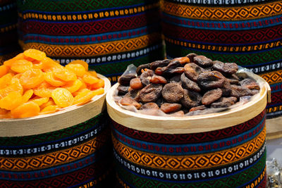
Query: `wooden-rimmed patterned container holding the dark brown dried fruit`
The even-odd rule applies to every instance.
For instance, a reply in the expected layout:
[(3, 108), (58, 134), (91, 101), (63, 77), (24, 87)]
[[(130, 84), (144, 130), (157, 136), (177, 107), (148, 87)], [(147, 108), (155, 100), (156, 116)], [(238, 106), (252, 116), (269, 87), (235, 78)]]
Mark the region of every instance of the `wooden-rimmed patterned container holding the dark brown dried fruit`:
[(125, 111), (106, 94), (118, 184), (122, 187), (265, 187), (269, 84), (221, 113), (159, 117)]

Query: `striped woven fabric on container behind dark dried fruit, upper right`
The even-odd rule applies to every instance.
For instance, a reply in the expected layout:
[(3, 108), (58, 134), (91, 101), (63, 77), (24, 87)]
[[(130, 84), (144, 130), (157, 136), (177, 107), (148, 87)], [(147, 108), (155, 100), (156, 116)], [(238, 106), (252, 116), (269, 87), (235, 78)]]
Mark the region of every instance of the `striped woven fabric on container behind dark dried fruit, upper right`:
[(271, 85), (266, 117), (282, 115), (282, 1), (162, 0), (168, 58), (189, 53), (235, 62)]

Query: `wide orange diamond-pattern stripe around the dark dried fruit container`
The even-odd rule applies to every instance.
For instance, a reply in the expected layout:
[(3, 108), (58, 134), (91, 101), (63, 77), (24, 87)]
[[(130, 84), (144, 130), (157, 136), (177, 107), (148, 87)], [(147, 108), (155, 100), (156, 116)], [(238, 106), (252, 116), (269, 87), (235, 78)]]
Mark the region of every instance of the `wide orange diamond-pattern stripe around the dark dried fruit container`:
[(264, 145), (265, 137), (266, 129), (264, 127), (264, 131), (262, 131), (262, 133), (255, 139), (240, 146), (226, 149), (224, 151), (207, 153), (205, 155), (200, 154), (190, 156), (164, 156), (155, 153), (142, 152), (121, 144), (121, 142), (118, 142), (114, 137), (112, 137), (112, 140), (114, 149), (118, 155), (123, 156), (123, 158), (132, 163), (137, 163), (137, 165), (160, 169), (183, 170), (189, 168), (195, 170), (227, 165), (242, 160), (262, 147)]

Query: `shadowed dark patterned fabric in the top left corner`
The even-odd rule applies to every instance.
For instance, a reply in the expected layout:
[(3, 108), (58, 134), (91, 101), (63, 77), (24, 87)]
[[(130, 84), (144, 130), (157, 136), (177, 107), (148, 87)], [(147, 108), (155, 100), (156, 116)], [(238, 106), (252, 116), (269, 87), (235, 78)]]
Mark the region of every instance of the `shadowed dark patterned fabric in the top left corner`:
[(16, 0), (0, 1), (0, 64), (20, 52)]

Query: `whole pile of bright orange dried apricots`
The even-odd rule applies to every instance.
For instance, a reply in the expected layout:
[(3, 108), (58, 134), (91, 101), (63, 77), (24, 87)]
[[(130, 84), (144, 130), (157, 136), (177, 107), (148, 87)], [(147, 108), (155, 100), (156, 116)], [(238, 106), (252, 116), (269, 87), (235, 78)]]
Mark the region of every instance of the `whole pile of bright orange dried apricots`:
[(27, 118), (81, 105), (104, 93), (104, 80), (84, 61), (65, 67), (28, 49), (0, 66), (0, 118)]

